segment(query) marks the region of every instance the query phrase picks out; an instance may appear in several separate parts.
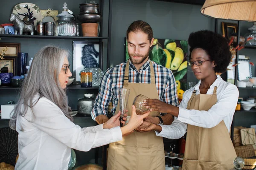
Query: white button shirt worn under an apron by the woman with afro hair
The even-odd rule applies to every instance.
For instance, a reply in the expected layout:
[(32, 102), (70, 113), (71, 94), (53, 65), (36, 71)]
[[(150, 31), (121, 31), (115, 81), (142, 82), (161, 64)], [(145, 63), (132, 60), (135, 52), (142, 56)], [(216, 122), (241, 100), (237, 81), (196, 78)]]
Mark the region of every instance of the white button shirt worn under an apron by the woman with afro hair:
[(211, 128), (218, 125), (222, 120), (224, 120), (227, 130), (230, 131), (230, 126), (239, 97), (237, 87), (229, 82), (225, 82), (218, 75), (215, 82), (213, 82), (207, 91), (207, 94), (213, 94), (214, 87), (217, 86), (217, 103), (208, 111), (186, 109), (193, 91), (196, 90), (196, 95), (200, 94), (200, 84), (201, 80), (197, 85), (195, 85), (195, 87), (185, 91), (183, 99), (180, 102), (178, 117), (175, 117), (172, 125), (161, 125), (162, 131), (160, 133), (156, 132), (157, 136), (169, 139), (180, 139), (186, 133), (187, 124)]

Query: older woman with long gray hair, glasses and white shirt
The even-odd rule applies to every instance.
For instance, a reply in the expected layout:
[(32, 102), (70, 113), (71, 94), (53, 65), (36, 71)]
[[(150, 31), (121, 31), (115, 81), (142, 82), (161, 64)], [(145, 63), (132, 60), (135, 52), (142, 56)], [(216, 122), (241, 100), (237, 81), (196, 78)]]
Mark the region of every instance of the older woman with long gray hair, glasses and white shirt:
[(35, 54), (10, 120), (10, 127), (19, 133), (15, 170), (67, 170), (71, 148), (89, 151), (122, 140), (149, 114), (137, 115), (133, 106), (124, 127), (119, 127), (120, 112), (95, 127), (75, 125), (65, 93), (72, 76), (67, 57), (66, 50), (55, 46), (46, 46)]

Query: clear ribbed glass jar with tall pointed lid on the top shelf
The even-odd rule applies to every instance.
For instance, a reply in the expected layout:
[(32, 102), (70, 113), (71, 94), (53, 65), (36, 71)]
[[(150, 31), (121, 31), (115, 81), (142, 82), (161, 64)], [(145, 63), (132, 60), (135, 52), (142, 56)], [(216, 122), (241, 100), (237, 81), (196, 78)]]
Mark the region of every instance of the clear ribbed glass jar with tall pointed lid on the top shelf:
[(76, 36), (77, 26), (73, 20), (74, 16), (67, 10), (67, 3), (64, 3), (63, 11), (58, 14), (55, 23), (55, 36)]

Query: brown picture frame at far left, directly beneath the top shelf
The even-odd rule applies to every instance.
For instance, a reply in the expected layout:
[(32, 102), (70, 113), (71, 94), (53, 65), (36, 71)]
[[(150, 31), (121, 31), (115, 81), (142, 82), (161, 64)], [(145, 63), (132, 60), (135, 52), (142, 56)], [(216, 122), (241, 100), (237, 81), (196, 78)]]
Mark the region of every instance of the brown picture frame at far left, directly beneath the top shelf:
[(5, 53), (5, 56), (18, 56), (18, 53), (20, 52), (20, 43), (0, 42), (0, 51), (2, 51), (3, 48), (6, 47), (7, 51)]

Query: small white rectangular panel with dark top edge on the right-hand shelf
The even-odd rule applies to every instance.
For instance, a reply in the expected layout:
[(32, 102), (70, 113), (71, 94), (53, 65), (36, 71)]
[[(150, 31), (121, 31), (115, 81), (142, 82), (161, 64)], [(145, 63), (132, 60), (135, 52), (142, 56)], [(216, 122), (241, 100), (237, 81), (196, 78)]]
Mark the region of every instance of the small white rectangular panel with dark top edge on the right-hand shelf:
[(238, 80), (244, 80), (252, 77), (252, 70), (250, 66), (250, 59), (238, 59)]

